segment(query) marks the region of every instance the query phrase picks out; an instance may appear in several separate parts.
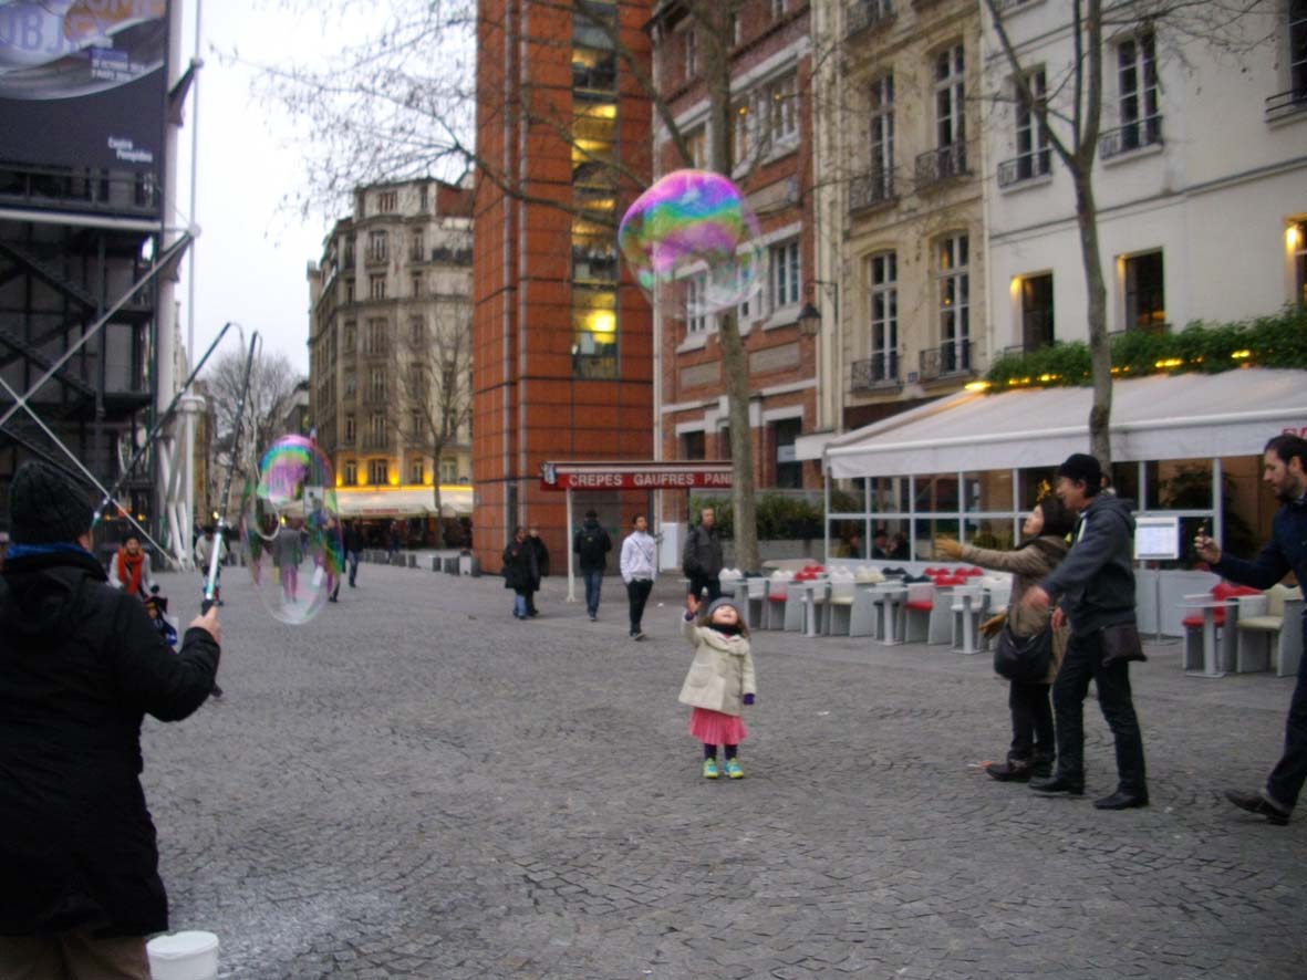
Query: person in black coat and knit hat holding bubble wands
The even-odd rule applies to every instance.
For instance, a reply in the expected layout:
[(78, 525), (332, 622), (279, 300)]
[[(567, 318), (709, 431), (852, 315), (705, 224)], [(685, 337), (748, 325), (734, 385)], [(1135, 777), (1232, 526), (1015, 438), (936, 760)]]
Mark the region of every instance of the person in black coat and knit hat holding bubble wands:
[(141, 720), (179, 721), (213, 689), (217, 609), (171, 653), (90, 547), (91, 508), (25, 464), (0, 571), (0, 973), (149, 980), (169, 928), (141, 789)]

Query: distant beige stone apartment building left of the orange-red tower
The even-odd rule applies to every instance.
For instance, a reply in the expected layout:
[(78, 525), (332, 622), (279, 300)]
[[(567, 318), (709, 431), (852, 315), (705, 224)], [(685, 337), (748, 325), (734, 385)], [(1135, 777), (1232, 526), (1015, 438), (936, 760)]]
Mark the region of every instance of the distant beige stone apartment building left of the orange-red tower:
[(370, 516), (425, 515), (433, 483), (472, 477), (465, 409), (434, 448), (440, 413), (457, 413), (471, 384), (471, 188), (434, 179), (358, 188), (354, 213), (308, 265), (308, 290), (312, 423), (336, 485), (408, 491)]

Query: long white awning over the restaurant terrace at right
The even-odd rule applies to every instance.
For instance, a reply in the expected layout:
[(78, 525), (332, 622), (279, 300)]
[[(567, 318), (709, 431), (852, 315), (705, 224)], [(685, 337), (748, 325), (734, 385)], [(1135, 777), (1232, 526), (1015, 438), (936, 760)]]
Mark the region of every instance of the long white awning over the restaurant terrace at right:
[[(1093, 388), (961, 392), (839, 436), (808, 435), (799, 459), (831, 476), (904, 476), (1051, 466), (1089, 451)], [(1307, 427), (1307, 371), (1244, 368), (1112, 385), (1112, 461), (1256, 456)]]

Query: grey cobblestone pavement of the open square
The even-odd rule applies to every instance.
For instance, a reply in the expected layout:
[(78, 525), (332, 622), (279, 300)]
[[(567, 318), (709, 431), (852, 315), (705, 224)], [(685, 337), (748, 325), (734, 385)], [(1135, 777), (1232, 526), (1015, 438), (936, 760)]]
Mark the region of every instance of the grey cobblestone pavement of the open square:
[[(174, 612), (195, 576), (161, 576)], [(704, 781), (674, 581), (626, 638), (497, 579), (363, 566), (311, 623), (225, 576), (226, 696), (146, 723), (174, 929), (230, 977), (1302, 977), (1307, 818), (1221, 800), (1278, 755), (1291, 679), (1136, 665), (1153, 806), (988, 779), (1006, 691), (945, 647), (755, 634), (746, 779)], [(656, 602), (667, 602), (656, 608)]]

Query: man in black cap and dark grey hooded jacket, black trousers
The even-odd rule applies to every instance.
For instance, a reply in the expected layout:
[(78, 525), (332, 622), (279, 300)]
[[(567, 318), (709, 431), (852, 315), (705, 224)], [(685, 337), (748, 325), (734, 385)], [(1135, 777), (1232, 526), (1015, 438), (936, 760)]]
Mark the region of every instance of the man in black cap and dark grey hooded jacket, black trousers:
[[(1060, 597), (1053, 629), (1070, 622), (1070, 640), (1057, 679), (1053, 682), (1053, 712), (1057, 717), (1057, 771), (1051, 779), (1034, 779), (1040, 793), (1085, 792), (1085, 695), (1089, 682), (1098, 686), (1098, 704), (1116, 741), (1116, 792), (1095, 800), (1099, 810), (1148, 806), (1144, 770), (1144, 737), (1131, 699), (1129, 662), (1110, 656), (1107, 634), (1124, 631), (1137, 643), (1134, 631), (1134, 517), (1132, 500), (1099, 493), (1103, 470), (1098, 460), (1072, 453), (1057, 468), (1057, 499), (1077, 515), (1073, 544), (1067, 559), (1023, 602), (1046, 609), (1051, 596)], [(1137, 659), (1137, 657), (1136, 657)]]

